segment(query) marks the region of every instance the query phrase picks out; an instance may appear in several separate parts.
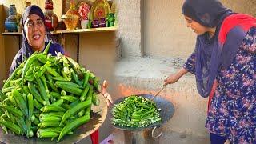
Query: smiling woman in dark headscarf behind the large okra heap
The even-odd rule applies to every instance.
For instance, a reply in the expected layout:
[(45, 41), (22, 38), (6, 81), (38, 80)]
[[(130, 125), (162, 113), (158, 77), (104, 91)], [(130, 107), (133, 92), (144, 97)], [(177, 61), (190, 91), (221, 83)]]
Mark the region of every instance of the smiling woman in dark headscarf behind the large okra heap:
[[(46, 27), (41, 8), (35, 5), (28, 6), (22, 14), (22, 47), (14, 57), (10, 74), (35, 51), (43, 51), (50, 40), (52, 37), (50, 30)], [(64, 54), (62, 46), (56, 42), (51, 43), (48, 54), (55, 56), (58, 52)], [(102, 86), (102, 94), (106, 98), (107, 106), (110, 106), (113, 101), (110, 94), (106, 92), (106, 84)], [(98, 130), (91, 134), (91, 140), (95, 144), (98, 143)]]

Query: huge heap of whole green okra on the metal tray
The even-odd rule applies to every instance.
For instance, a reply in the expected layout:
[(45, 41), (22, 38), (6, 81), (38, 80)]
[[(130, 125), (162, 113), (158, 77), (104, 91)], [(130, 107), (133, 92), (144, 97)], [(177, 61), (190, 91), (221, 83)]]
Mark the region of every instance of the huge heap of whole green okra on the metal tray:
[(35, 52), (22, 62), (0, 91), (2, 130), (27, 138), (58, 138), (90, 120), (98, 105), (99, 79), (62, 54)]

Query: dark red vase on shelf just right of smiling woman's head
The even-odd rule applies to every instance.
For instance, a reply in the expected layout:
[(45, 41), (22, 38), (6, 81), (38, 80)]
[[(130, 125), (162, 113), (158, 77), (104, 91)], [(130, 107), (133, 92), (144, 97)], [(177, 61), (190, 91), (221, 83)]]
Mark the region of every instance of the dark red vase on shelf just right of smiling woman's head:
[(58, 17), (54, 14), (54, 2), (52, 0), (46, 0), (45, 12), (46, 27), (49, 30), (54, 30), (58, 26)]

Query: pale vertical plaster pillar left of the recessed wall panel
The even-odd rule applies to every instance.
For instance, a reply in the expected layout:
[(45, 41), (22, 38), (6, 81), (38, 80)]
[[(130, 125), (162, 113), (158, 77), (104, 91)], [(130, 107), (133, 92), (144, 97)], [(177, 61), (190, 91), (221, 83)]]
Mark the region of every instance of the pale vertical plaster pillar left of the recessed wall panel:
[(142, 56), (142, 0), (115, 0), (118, 5), (118, 38), (122, 38), (122, 57)]

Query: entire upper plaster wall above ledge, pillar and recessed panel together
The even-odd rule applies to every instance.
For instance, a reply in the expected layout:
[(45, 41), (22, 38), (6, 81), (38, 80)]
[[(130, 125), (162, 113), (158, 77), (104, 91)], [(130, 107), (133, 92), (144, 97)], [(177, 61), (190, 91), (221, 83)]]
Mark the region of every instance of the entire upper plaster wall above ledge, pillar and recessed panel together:
[[(183, 0), (118, 1), (118, 37), (122, 57), (184, 57), (194, 50), (195, 35), (182, 16)], [(235, 12), (256, 16), (256, 0), (221, 0)], [(144, 38), (143, 38), (144, 37)]]

